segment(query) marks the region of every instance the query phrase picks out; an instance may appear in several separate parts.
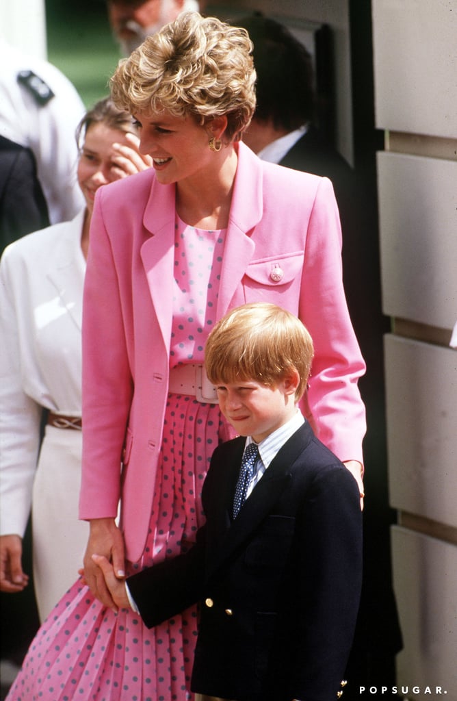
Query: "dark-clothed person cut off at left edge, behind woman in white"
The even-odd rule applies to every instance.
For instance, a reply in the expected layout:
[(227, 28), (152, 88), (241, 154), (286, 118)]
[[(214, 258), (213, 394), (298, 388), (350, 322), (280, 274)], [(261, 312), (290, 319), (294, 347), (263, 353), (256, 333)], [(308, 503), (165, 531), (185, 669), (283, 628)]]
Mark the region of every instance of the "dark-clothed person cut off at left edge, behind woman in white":
[(48, 225), (32, 151), (0, 135), (0, 253), (26, 233)]

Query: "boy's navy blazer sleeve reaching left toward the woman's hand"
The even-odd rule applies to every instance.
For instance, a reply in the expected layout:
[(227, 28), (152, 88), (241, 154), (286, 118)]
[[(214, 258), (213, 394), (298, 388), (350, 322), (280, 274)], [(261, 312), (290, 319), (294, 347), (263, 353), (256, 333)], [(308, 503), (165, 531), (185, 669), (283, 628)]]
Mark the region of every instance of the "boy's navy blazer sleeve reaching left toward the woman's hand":
[(203, 590), (205, 526), (188, 552), (128, 578), (130, 594), (148, 628), (195, 604)]

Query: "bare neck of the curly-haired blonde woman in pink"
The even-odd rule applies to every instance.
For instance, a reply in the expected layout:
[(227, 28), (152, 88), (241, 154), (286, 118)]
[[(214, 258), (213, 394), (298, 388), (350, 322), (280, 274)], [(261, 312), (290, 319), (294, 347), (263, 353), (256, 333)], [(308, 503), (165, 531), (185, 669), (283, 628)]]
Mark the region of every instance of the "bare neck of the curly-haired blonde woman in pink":
[(215, 175), (200, 177), (197, 184), (177, 184), (176, 210), (183, 222), (198, 229), (227, 228), (237, 163), (238, 156), (231, 144)]

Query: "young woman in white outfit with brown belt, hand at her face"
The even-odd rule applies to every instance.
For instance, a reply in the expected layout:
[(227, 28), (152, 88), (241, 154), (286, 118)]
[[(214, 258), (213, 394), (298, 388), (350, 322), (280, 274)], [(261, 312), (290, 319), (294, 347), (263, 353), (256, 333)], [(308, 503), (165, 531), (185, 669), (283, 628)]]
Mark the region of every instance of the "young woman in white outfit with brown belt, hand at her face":
[(32, 507), (41, 620), (74, 582), (88, 540), (78, 520), (81, 317), (95, 192), (150, 165), (132, 118), (108, 98), (87, 112), (76, 137), (86, 206), (70, 222), (15, 241), (0, 261), (0, 590), (27, 585), (22, 537)]

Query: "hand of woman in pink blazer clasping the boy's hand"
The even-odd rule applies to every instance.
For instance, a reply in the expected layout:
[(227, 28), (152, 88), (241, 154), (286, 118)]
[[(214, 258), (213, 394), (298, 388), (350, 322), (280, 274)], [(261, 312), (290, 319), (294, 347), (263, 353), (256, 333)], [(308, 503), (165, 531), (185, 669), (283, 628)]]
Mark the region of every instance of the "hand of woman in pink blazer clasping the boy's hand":
[(94, 554), (103, 555), (112, 563), (116, 577), (125, 577), (124, 541), (114, 519), (93, 519), (90, 522), (90, 535), (84, 555), (84, 579), (94, 597), (108, 608), (116, 604), (104, 580), (104, 574), (93, 561)]

